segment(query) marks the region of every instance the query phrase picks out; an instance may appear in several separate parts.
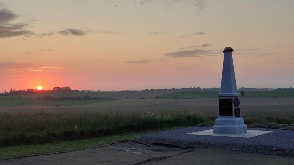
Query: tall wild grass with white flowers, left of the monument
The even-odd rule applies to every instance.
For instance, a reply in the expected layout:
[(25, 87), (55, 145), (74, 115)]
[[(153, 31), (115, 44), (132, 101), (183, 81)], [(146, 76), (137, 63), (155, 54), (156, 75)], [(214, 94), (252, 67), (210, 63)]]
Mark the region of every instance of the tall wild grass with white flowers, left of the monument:
[(0, 114), (0, 146), (42, 144), (130, 131), (193, 126), (206, 120), (195, 112)]

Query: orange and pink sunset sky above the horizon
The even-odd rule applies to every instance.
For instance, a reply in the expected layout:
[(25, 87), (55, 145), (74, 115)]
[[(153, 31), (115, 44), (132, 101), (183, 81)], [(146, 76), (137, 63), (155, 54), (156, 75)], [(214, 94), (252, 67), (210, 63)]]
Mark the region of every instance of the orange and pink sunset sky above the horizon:
[(0, 92), (293, 87), (293, 0), (0, 0)]

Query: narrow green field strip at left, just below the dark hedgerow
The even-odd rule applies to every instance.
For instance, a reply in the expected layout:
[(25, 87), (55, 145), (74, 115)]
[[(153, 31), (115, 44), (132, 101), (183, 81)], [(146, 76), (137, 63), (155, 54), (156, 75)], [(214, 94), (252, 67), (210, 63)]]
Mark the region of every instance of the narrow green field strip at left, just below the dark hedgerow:
[(100, 103), (105, 101), (113, 101), (108, 99), (103, 100), (62, 100), (62, 101), (48, 101), (48, 100), (30, 100), (30, 99), (0, 99), (0, 107), (14, 107), (14, 106), (68, 106)]

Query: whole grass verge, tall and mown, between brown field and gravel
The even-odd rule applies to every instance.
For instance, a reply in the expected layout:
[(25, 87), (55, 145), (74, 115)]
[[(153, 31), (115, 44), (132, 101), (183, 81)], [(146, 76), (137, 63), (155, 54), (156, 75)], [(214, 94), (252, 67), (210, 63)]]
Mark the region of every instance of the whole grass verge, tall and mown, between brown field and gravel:
[[(245, 124), (294, 124), (294, 112), (242, 112), (242, 117)], [(0, 114), (0, 157), (92, 148), (162, 129), (211, 126), (216, 118), (209, 112)]]

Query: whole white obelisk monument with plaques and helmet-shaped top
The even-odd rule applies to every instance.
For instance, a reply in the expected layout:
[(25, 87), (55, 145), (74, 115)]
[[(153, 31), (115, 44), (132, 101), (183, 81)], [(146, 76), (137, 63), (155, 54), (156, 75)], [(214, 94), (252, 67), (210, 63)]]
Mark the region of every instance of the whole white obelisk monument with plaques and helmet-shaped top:
[(247, 132), (247, 126), (240, 113), (240, 94), (237, 92), (235, 71), (231, 47), (224, 48), (224, 64), (221, 77), (218, 118), (213, 133), (241, 134)]

